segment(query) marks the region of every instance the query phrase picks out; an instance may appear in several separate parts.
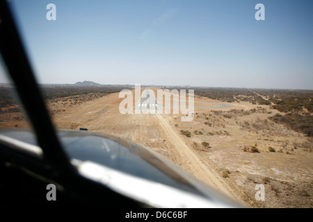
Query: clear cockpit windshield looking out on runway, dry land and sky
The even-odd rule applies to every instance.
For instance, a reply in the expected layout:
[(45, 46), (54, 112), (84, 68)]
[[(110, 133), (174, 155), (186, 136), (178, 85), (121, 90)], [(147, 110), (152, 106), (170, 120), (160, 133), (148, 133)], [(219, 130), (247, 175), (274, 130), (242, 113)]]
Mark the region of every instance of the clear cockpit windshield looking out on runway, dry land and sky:
[[(8, 2), (56, 129), (142, 144), (249, 206), (312, 207), (312, 1)], [(0, 103), (1, 128), (29, 128)]]

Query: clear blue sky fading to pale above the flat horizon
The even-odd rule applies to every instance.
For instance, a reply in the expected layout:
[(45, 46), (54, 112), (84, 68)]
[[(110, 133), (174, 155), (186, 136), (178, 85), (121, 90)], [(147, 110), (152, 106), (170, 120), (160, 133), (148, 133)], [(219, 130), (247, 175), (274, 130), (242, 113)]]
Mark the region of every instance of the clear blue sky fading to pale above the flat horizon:
[(10, 2), (40, 83), (313, 89), (312, 0)]

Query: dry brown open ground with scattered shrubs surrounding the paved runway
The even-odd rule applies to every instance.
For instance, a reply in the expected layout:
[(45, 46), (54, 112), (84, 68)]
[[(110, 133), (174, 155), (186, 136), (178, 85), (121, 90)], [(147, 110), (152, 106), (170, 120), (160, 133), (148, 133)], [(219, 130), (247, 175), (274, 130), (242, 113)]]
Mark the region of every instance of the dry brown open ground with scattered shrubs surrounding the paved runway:
[[(118, 95), (48, 106), (57, 110), (52, 112), (57, 128), (86, 127), (131, 139), (248, 207), (313, 207), (312, 139), (270, 121), (268, 117), (277, 110), (248, 102), (230, 103), (232, 108), (223, 109), (202, 104), (206, 107), (195, 108), (193, 121), (183, 122), (180, 114), (172, 112), (120, 114)], [(221, 103), (199, 96), (195, 102)], [(22, 118), (9, 114), (1, 114), (0, 119), (1, 128), (27, 126)], [(181, 130), (188, 130), (191, 137)], [(265, 186), (264, 201), (255, 200), (257, 184)]]

